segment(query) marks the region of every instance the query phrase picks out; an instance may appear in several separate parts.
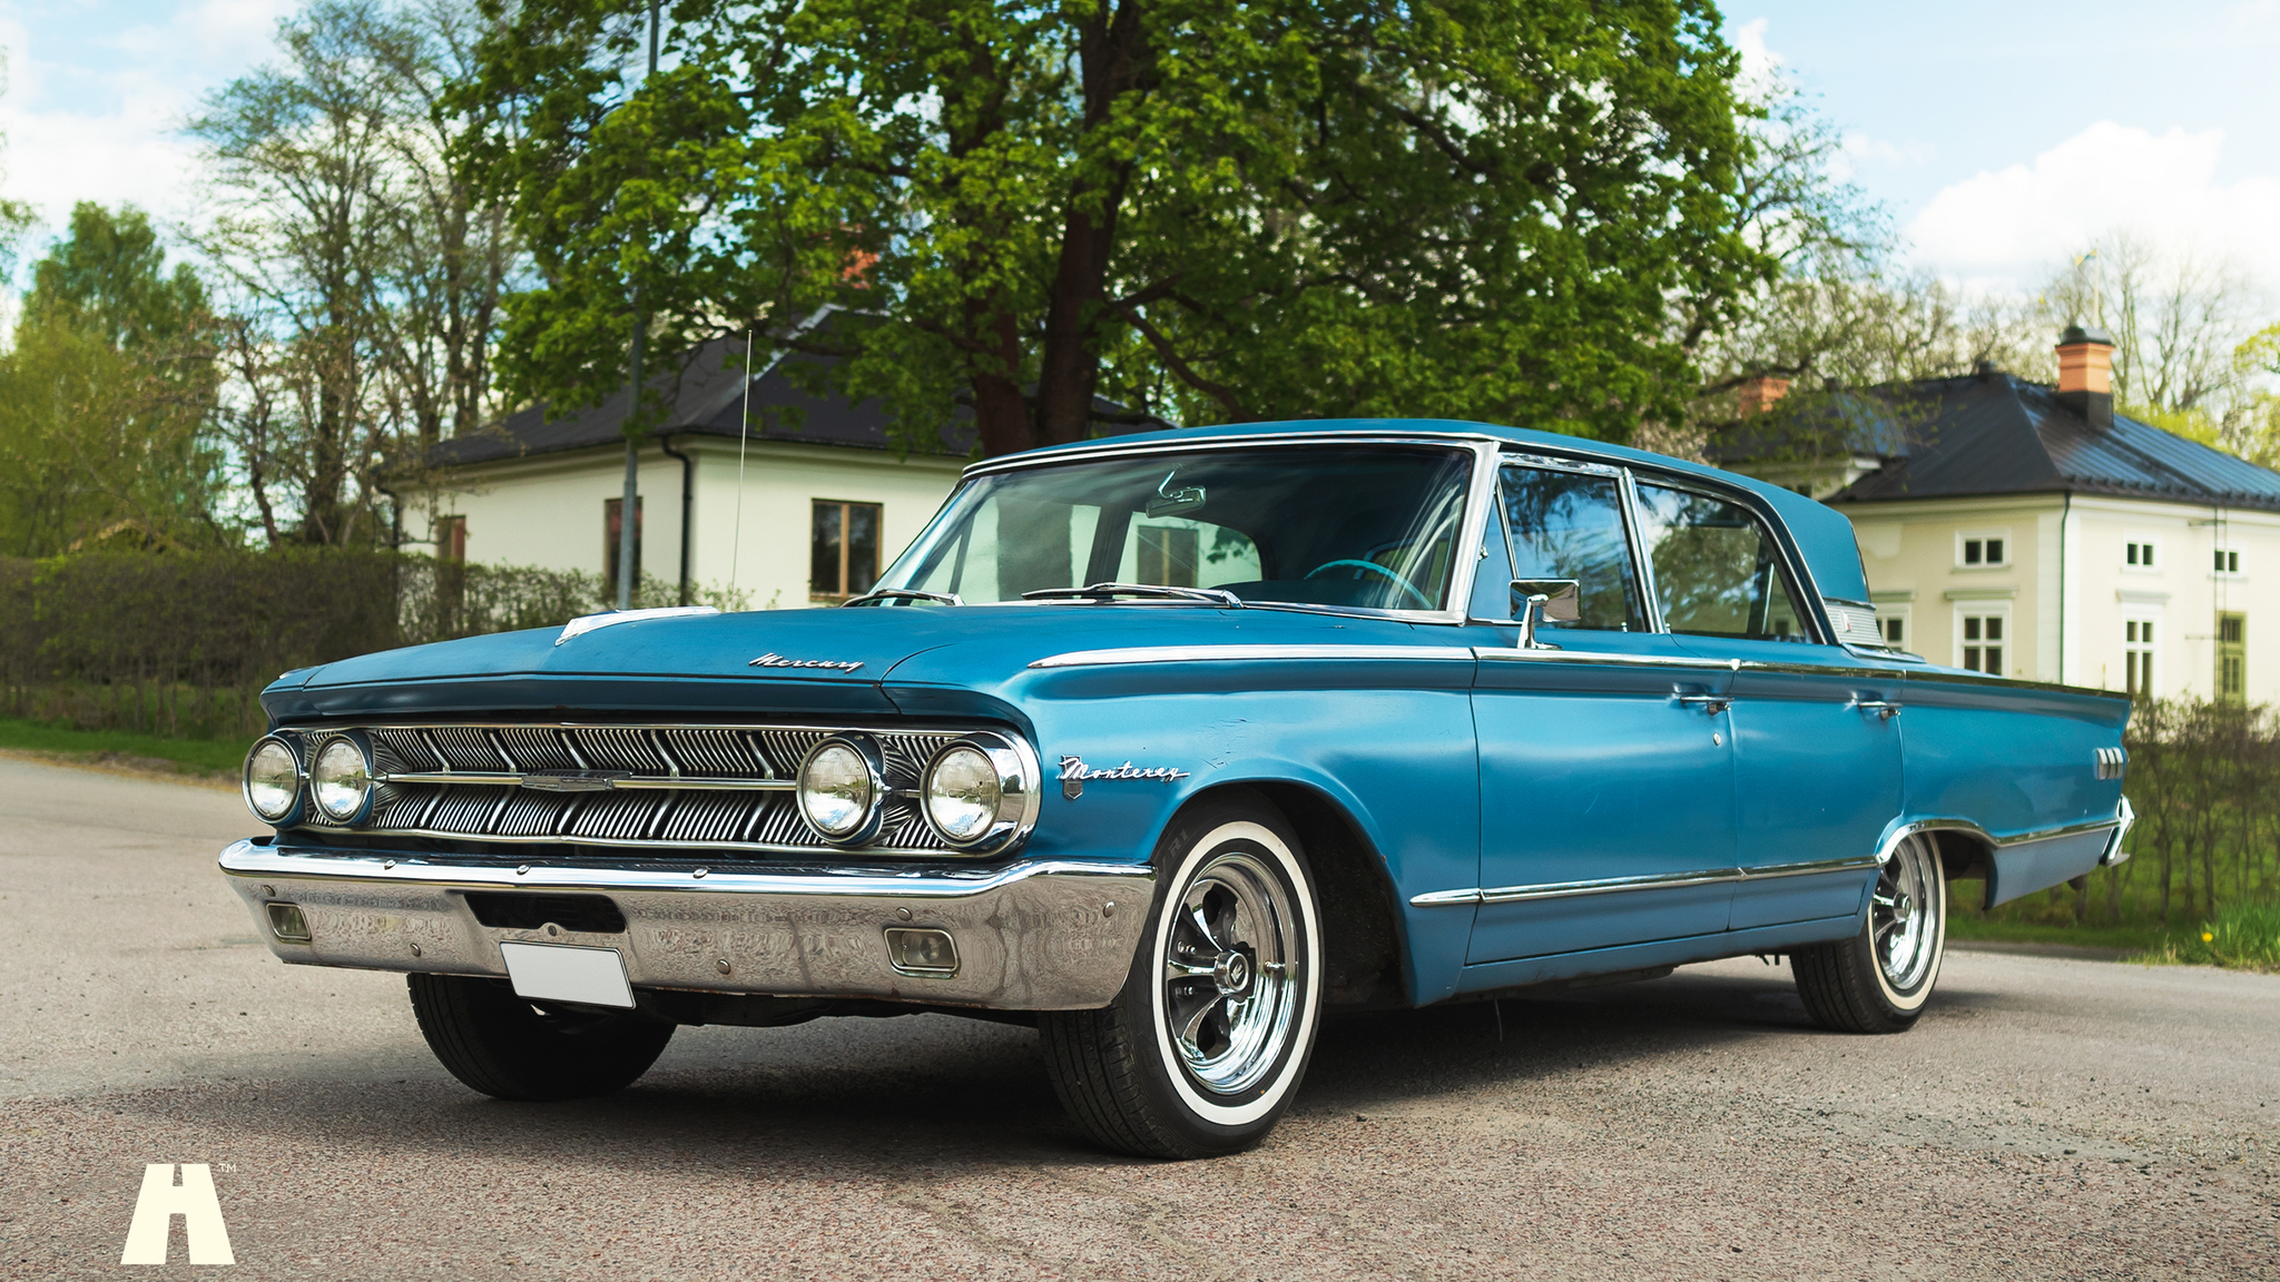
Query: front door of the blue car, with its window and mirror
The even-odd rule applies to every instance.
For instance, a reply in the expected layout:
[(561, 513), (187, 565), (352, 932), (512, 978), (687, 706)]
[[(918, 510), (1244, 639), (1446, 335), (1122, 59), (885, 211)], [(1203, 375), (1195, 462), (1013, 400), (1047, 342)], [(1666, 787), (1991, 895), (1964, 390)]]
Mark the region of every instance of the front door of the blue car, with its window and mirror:
[(1498, 500), (1475, 620), (1514, 616), (1512, 579), (1573, 579), (1578, 618), (1544, 625), (1541, 650), (1480, 627), (1468, 963), (1724, 931), (1735, 792), (1710, 709), (1731, 666), (1653, 630), (1619, 470), (1512, 461)]

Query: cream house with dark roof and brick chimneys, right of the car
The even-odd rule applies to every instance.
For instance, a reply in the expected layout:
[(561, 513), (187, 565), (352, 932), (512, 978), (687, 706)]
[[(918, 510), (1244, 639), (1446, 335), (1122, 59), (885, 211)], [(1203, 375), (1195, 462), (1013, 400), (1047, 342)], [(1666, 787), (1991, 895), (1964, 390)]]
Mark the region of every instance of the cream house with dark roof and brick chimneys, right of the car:
[[(2280, 474), (2114, 413), (2111, 340), (1753, 417), (1737, 468), (1851, 518), (1886, 639), (1940, 664), (2280, 700)], [(1778, 381), (1776, 381), (1778, 383)], [(1744, 401), (1769, 406), (1785, 386)], [(1788, 452), (1765, 449), (1788, 440)]]

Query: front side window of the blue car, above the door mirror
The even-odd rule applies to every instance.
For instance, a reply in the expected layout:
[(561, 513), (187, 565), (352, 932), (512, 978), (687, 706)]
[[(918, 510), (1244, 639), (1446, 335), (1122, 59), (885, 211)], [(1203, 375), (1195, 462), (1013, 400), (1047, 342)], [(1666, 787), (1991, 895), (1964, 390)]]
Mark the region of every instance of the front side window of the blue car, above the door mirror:
[(1614, 477), (1505, 465), (1514, 579), (1575, 579), (1580, 618), (1553, 627), (1646, 632)]

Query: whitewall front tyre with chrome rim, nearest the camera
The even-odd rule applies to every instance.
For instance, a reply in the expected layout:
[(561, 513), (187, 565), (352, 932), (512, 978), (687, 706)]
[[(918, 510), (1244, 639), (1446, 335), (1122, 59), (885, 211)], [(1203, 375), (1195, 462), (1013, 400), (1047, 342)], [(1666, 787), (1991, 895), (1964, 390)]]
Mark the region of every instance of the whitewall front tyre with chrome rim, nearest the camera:
[(1156, 846), (1161, 892), (1124, 992), (1049, 1011), (1053, 1090), (1106, 1147), (1215, 1157), (1259, 1143), (1297, 1093), (1322, 1013), (1313, 874), (1281, 814), (1211, 801)]

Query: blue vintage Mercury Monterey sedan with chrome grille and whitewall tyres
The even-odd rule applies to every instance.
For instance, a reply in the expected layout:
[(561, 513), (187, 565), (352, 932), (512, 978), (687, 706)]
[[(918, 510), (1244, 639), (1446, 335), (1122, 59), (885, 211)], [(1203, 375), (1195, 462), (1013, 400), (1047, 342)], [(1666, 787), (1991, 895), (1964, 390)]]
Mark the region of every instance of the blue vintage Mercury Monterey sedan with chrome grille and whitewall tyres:
[(474, 1090), (677, 1024), (1033, 1022), (1104, 1145), (1259, 1141), (1338, 1011), (1788, 954), (1892, 1033), (1988, 903), (2123, 858), (2127, 700), (1881, 643), (1851, 527), (1468, 422), (967, 470), (848, 609), (629, 611), (296, 671), (221, 869), (408, 972)]

